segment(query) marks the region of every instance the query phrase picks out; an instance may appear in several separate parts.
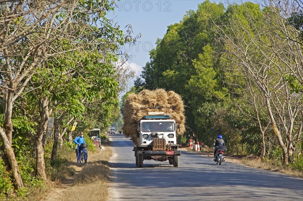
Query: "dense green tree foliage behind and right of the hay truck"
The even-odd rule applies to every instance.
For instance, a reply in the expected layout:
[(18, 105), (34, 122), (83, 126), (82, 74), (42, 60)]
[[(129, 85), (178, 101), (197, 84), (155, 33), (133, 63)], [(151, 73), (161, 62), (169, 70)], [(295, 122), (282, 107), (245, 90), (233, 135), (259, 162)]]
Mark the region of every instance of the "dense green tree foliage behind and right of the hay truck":
[[(268, 23), (268, 19), (273, 18), (268, 8), (261, 10), (259, 4), (251, 2), (232, 4), (227, 9), (210, 1), (199, 4), (198, 9), (187, 12), (182, 21), (168, 26), (167, 33), (150, 51), (142, 80), (136, 81), (136, 89), (132, 91), (164, 88), (179, 93), (187, 106), (187, 133), (194, 132), (199, 141), (209, 146), (218, 133), (223, 133), (229, 152), (259, 155), (260, 127), (268, 139), (269, 117), (264, 94), (249, 78), (272, 76), (271, 84), (279, 80), (273, 76), (278, 69), (266, 71), (272, 61), (265, 58), (273, 57), (268, 47), (285, 44), (281, 31), (273, 27), (276, 22)], [(289, 19), (289, 22), (297, 24), (298, 19)], [(274, 39), (268, 33), (277, 33), (279, 37)], [(254, 44), (252, 39), (258, 43)], [(249, 62), (245, 63), (246, 60)], [(244, 63), (254, 66), (254, 75), (243, 70)], [(280, 70), (284, 64), (281, 66)], [(299, 76), (290, 75), (283, 77), (290, 92), (302, 91), (296, 80)], [(277, 89), (272, 91), (276, 93)], [(183, 141), (180, 137), (179, 143)], [(281, 159), (278, 146), (266, 148), (269, 147), (269, 156)]]

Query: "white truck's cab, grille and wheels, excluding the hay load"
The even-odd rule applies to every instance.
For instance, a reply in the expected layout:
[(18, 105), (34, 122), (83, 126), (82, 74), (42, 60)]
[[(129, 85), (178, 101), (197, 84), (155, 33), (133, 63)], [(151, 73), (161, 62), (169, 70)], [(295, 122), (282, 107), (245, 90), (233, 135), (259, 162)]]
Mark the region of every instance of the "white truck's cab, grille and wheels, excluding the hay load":
[(137, 167), (143, 167), (144, 160), (168, 160), (169, 164), (178, 167), (181, 152), (178, 150), (176, 129), (180, 126), (170, 115), (154, 112), (153, 115), (143, 116), (137, 122), (136, 136), (131, 139)]

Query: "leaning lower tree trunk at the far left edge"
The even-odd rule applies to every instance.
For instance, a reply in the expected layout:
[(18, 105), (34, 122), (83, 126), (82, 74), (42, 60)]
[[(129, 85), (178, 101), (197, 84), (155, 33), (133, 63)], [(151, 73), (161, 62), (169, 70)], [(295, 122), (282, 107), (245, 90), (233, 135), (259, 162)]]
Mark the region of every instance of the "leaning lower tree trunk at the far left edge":
[(5, 155), (10, 164), (10, 169), (13, 172), (13, 178), (15, 180), (15, 184), (16, 184), (17, 188), (22, 188), (22, 187), (24, 187), (24, 185), (23, 185), (23, 181), (21, 178), (19, 166), (18, 166), (18, 163), (16, 160), (16, 156), (15, 156), (14, 150), (11, 146), (11, 143), (10, 143), (9, 139), (7, 138), (6, 133), (2, 127), (0, 127), (0, 135), (1, 135), (1, 140), (3, 142), (3, 146), (5, 148)]

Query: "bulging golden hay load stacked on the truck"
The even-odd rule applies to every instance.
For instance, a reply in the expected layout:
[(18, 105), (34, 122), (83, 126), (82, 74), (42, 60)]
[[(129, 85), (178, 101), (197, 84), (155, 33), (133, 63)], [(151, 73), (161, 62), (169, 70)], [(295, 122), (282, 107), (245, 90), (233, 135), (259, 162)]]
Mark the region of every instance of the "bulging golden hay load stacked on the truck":
[(136, 135), (136, 122), (148, 112), (164, 112), (170, 115), (180, 125), (178, 135), (185, 132), (184, 104), (181, 96), (173, 91), (157, 89), (128, 95), (123, 109), (124, 135), (128, 137)]

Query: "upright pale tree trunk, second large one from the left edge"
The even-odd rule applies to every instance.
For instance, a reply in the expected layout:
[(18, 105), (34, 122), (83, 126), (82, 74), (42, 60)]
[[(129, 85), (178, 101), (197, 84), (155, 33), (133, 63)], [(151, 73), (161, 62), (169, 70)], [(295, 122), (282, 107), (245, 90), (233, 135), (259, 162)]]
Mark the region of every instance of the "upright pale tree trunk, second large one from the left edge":
[(48, 120), (48, 98), (39, 101), (40, 105), (40, 120), (36, 137), (36, 176), (40, 176), (46, 180), (45, 161), (44, 161), (44, 146), (43, 138), (45, 137)]

